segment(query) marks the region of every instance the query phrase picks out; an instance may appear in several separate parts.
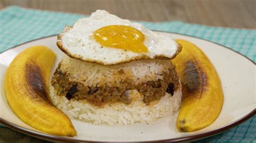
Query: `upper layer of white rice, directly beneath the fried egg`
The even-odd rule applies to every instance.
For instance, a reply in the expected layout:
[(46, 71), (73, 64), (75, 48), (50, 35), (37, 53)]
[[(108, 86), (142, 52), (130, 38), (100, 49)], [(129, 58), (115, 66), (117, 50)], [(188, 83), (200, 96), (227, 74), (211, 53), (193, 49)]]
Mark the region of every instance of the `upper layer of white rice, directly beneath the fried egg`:
[[(134, 84), (147, 81), (163, 80), (163, 72), (169, 73), (173, 68), (171, 60), (139, 60), (114, 66), (103, 66), (95, 63), (72, 59), (65, 55), (60, 62), (60, 70), (66, 72), (69, 80), (89, 87), (100, 87), (104, 84), (118, 86), (129, 79)], [(120, 74), (122, 69), (124, 73)]]

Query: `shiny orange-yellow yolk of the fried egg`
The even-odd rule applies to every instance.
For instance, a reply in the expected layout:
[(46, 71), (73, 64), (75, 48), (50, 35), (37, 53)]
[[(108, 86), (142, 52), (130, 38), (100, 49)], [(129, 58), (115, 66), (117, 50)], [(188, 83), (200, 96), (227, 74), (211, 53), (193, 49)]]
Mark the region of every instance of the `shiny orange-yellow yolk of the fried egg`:
[(135, 53), (147, 52), (147, 47), (143, 44), (143, 33), (130, 26), (104, 26), (93, 33), (93, 38), (104, 47), (125, 49)]

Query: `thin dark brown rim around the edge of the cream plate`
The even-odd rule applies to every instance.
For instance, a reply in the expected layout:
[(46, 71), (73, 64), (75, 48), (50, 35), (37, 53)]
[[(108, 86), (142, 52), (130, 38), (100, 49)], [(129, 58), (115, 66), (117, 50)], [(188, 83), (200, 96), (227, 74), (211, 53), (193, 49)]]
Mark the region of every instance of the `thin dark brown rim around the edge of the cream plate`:
[[(255, 65), (255, 62), (253, 60), (251, 60), (250, 58), (248, 58), (247, 56), (245, 56), (244, 54), (241, 54), (237, 51), (235, 51), (234, 49), (232, 48), (229, 48), (229, 47), (226, 47), (224, 45), (221, 45), (221, 44), (218, 44), (216, 42), (213, 42), (213, 41), (210, 41), (210, 40), (206, 40), (206, 39), (202, 39), (202, 38), (198, 38), (198, 37), (194, 37), (194, 36), (191, 36), (191, 35), (187, 35), (187, 34), (180, 34), (180, 33), (176, 33), (176, 32), (166, 32), (166, 31), (157, 31), (157, 30), (153, 30), (153, 31), (156, 31), (156, 32), (163, 32), (163, 33), (173, 33), (173, 34), (179, 34), (179, 35), (185, 35), (185, 36), (188, 36), (188, 37), (192, 37), (192, 38), (197, 38), (197, 39), (200, 39), (200, 40), (205, 40), (207, 42), (211, 42), (213, 44), (217, 44), (223, 48), (227, 48), (227, 49), (230, 49), (231, 51), (243, 56), (244, 58), (246, 58), (247, 60), (249, 60), (250, 62), (253, 63), (253, 65)], [(41, 37), (41, 38), (37, 38), (37, 39), (33, 39), (33, 40), (30, 40), (30, 41), (27, 41), (27, 42), (23, 42), (22, 44), (19, 44), (19, 45), (16, 45), (14, 47), (11, 47), (11, 48), (8, 48), (8, 49), (5, 49), (4, 51), (0, 52), (0, 55), (10, 49), (13, 49), (13, 48), (17, 48), (21, 45), (24, 45), (24, 44), (27, 44), (29, 42), (32, 42), (32, 41), (36, 41), (36, 40), (41, 40), (41, 39), (45, 39), (45, 38), (49, 38), (49, 37), (56, 37), (58, 34), (53, 34), (53, 35), (48, 35), (46, 37)], [(212, 131), (209, 131), (209, 132), (205, 132), (205, 133), (200, 133), (200, 134), (196, 134), (196, 135), (188, 135), (187, 137), (180, 137), (180, 138), (173, 138), (173, 139), (164, 139), (164, 140), (152, 140), (152, 141), (140, 141), (140, 142), (155, 142), (155, 141), (172, 141), (172, 142), (180, 142), (180, 141), (193, 141), (193, 140), (198, 140), (198, 139), (203, 139), (203, 138), (206, 138), (206, 137), (210, 137), (212, 135), (216, 135), (218, 133), (221, 133), (221, 132), (224, 132), (228, 129), (230, 129), (231, 127), (234, 127), (238, 124), (241, 124), (242, 122), (244, 122), (245, 120), (251, 118), (253, 115), (256, 114), (256, 109), (252, 110), (250, 113), (248, 113), (247, 115), (245, 115), (244, 117), (238, 119), (238, 120), (235, 120), (233, 121), (232, 123), (230, 124), (227, 124), (223, 127), (220, 127), (216, 130), (212, 130)], [(7, 120), (4, 120), (3, 118), (0, 117), (0, 123), (11, 128), (12, 130), (15, 130), (15, 131), (18, 131), (18, 132), (21, 132), (21, 133), (24, 133), (24, 134), (27, 134), (27, 135), (30, 135), (32, 137), (36, 137), (36, 138), (40, 138), (40, 139), (44, 139), (44, 140), (50, 140), (50, 141), (76, 141), (76, 142), (87, 142), (87, 141), (90, 141), (90, 140), (81, 140), (81, 139), (75, 139), (75, 138), (70, 138), (70, 137), (64, 137), (64, 136), (59, 136), (59, 135), (54, 135), (54, 134), (48, 134), (48, 133), (42, 133), (42, 132), (38, 132), (38, 131), (33, 131), (33, 130), (30, 130), (28, 128), (24, 128), (24, 127), (21, 127), (21, 126), (18, 126), (16, 124), (13, 124), (13, 123), (10, 123), (9, 121)], [(98, 141), (93, 141), (93, 142), (98, 142)], [(102, 142), (102, 141), (100, 141)]]

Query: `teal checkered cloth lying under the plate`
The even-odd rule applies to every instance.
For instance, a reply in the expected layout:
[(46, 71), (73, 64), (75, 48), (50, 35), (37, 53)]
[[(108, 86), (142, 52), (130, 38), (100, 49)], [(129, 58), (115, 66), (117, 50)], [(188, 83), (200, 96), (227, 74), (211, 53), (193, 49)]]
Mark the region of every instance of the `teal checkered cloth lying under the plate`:
[[(62, 12), (40, 11), (9, 6), (0, 11), (0, 52), (47, 35), (58, 34), (64, 25), (86, 17)], [(211, 27), (182, 22), (139, 22), (151, 30), (176, 32), (225, 45), (255, 62), (255, 30)], [(198, 142), (256, 142), (256, 116), (224, 133)]]

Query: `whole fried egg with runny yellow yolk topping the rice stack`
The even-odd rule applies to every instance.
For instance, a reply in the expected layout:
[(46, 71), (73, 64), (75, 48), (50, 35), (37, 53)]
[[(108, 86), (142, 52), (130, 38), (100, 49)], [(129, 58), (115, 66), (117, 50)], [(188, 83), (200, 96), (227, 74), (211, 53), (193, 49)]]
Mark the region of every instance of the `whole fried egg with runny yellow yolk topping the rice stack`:
[(105, 10), (66, 26), (58, 35), (57, 46), (71, 58), (101, 65), (173, 59), (181, 51), (181, 46), (170, 37)]

